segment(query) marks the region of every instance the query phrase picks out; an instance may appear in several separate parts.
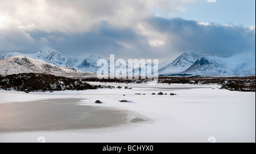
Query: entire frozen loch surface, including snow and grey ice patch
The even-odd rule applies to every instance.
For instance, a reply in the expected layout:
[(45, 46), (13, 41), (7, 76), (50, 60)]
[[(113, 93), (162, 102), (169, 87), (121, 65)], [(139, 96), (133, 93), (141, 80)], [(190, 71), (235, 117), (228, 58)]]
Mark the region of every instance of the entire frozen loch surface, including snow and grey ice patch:
[(1, 90), (0, 142), (38, 142), (40, 136), (46, 142), (255, 142), (254, 92), (220, 85), (103, 85), (122, 89)]

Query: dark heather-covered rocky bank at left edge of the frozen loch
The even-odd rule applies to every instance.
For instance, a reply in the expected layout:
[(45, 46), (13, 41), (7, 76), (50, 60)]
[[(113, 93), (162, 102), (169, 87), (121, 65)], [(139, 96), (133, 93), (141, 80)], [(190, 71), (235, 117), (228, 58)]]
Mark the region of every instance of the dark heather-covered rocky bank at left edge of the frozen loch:
[(80, 79), (58, 77), (49, 74), (22, 73), (0, 78), (0, 89), (17, 91), (64, 91), (97, 89), (98, 86)]

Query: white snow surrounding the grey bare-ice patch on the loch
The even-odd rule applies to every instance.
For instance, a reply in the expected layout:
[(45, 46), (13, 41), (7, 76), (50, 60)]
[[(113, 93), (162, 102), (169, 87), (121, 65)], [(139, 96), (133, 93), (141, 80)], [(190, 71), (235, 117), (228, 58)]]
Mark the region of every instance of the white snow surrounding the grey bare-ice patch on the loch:
[[(0, 133), (0, 142), (38, 142), (39, 136), (46, 142), (209, 142), (210, 136), (217, 142), (255, 142), (255, 93), (220, 90), (220, 85), (106, 85), (122, 89), (30, 94), (2, 90), (0, 103), (81, 98), (79, 105), (130, 110), (146, 121), (86, 130)], [(160, 91), (168, 95), (151, 95)], [(131, 102), (119, 102), (123, 99)], [(96, 100), (103, 103), (95, 104)]]

